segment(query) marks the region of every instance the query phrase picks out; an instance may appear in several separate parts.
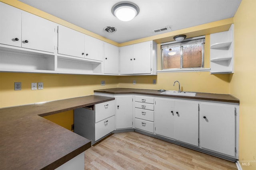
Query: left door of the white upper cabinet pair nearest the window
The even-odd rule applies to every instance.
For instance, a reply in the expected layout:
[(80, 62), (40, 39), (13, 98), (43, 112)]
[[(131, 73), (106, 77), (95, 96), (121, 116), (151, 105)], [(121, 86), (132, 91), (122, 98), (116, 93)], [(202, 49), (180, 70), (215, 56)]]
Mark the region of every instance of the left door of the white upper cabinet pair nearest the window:
[(133, 74), (133, 45), (120, 47), (120, 74)]

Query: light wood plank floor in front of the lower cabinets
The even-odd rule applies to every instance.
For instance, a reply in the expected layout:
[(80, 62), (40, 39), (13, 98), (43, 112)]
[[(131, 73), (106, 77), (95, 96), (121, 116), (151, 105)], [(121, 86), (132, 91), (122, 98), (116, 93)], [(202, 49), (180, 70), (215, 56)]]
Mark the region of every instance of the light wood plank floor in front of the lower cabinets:
[(85, 170), (226, 170), (236, 164), (136, 132), (115, 133), (85, 151)]

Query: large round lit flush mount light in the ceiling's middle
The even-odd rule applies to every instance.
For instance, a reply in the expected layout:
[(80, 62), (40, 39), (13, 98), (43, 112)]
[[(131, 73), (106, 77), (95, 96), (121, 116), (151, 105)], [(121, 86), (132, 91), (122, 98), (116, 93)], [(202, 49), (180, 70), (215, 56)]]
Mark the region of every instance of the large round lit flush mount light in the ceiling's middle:
[(112, 14), (121, 21), (130, 21), (139, 14), (140, 8), (132, 2), (118, 2), (112, 7)]

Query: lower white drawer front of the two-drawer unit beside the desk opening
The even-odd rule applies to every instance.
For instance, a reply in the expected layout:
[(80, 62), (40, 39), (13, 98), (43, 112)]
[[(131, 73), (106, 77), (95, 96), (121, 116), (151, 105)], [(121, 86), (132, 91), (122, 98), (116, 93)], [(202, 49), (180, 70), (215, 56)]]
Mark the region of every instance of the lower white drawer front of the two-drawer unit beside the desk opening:
[(115, 116), (95, 123), (95, 141), (104, 137), (115, 129)]

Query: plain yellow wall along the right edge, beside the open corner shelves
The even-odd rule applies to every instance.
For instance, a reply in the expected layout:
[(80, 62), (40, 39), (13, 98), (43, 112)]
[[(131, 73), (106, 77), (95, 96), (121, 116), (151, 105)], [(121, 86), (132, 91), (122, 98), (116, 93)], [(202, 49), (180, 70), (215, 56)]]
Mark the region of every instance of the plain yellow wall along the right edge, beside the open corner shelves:
[[(240, 99), (239, 160), (256, 169), (256, 0), (242, 0), (234, 16), (234, 74), (230, 93)], [(240, 162), (242, 165), (242, 162)]]

